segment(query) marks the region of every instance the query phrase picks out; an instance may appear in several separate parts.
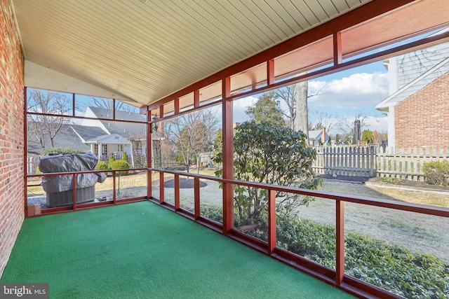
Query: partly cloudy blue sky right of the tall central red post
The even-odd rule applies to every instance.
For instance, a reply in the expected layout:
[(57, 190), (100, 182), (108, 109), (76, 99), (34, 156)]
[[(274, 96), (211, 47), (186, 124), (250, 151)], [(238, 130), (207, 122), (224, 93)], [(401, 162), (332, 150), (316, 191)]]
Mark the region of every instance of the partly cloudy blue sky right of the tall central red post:
[[(323, 90), (321, 95), (308, 100), (309, 121), (315, 124), (320, 118), (332, 123), (332, 134), (338, 133), (337, 122), (342, 118), (355, 118), (361, 114), (368, 118), (370, 130), (387, 131), (387, 117), (374, 107), (388, 96), (387, 69), (382, 62), (340, 71), (309, 81), (309, 94)], [(234, 102), (234, 121), (248, 119), (246, 108), (260, 95)], [(281, 106), (282, 103), (281, 103)], [(285, 106), (284, 106), (285, 108)]]

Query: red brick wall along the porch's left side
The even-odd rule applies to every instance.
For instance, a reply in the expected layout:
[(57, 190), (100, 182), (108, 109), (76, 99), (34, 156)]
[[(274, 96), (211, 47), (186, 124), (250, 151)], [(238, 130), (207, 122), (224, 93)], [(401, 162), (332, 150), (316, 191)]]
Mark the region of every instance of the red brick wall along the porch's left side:
[(9, 0), (0, 0), (0, 277), (24, 212), (23, 58)]

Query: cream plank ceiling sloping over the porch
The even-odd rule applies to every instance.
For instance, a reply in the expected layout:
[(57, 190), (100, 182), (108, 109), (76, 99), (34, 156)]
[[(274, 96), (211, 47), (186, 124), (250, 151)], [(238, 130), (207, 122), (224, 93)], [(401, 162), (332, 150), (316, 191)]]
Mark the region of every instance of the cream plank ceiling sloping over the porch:
[[(117, 99), (131, 99), (138, 106), (368, 2), (11, 1), (27, 62), (107, 90)], [(25, 83), (33, 85), (33, 81)], [(64, 90), (62, 79), (55, 77), (52, 88)]]

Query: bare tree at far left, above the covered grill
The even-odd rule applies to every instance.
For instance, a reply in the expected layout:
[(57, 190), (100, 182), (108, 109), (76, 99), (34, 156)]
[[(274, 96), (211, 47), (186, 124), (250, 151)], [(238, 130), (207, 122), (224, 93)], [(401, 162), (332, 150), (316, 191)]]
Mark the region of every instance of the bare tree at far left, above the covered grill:
[(48, 140), (49, 145), (54, 148), (58, 132), (64, 125), (71, 123), (71, 120), (62, 116), (72, 114), (72, 101), (68, 101), (65, 95), (58, 92), (29, 90), (27, 110), (39, 113), (27, 116), (27, 134), (32, 134), (41, 148), (47, 148)]

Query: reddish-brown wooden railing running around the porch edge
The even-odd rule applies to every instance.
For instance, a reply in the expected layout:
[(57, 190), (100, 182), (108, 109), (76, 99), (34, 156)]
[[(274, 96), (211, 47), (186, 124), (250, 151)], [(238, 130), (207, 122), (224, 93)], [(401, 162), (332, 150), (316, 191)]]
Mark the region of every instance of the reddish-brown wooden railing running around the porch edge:
[[(339, 193), (330, 193), (324, 191), (317, 190), (307, 190), (300, 188), (292, 188), (288, 186), (276, 186), (269, 185), (266, 183), (255, 183), (250, 181), (239, 181), (235, 179), (222, 179), (220, 177), (215, 176), (205, 176), (200, 174), (192, 174), (186, 172), (175, 172), (166, 169), (156, 169), (156, 168), (141, 168), (141, 169), (130, 169), (130, 170), (144, 170), (147, 171), (147, 196), (143, 197), (135, 197), (128, 198), (124, 200), (117, 200), (116, 198), (116, 172), (121, 170), (110, 170), (108, 172), (113, 173), (113, 193), (114, 199), (110, 202), (95, 202), (95, 203), (85, 203), (85, 204), (77, 204), (76, 203), (76, 193), (73, 193), (73, 203), (67, 207), (55, 207), (51, 209), (44, 209), (42, 214), (53, 214), (60, 213), (62, 211), (69, 210), (77, 210), (77, 209), (88, 209), (93, 207), (107, 206), (109, 204), (121, 204), (124, 202), (134, 202), (140, 200), (151, 200), (156, 204), (160, 204), (162, 207), (166, 207), (172, 211), (175, 211), (177, 214), (185, 216), (187, 218), (192, 219), (192, 221), (196, 221), (202, 225), (207, 226), (217, 232), (222, 233), (223, 235), (227, 235), (232, 239), (235, 239), (238, 242), (246, 244), (247, 246), (256, 249), (262, 253), (265, 253), (277, 260), (282, 261), (283, 263), (287, 263), (288, 265), (295, 267), (303, 272), (307, 272), (314, 277), (317, 277), (323, 281), (328, 282), (338, 288), (343, 289), (344, 291), (348, 291), (349, 293), (353, 293), (361, 298), (373, 298), (373, 296), (378, 298), (402, 298), (401, 296), (395, 295), (394, 293), (389, 293), (382, 288), (377, 286), (373, 286), (359, 279), (355, 279), (354, 277), (349, 277), (345, 274), (344, 267), (344, 203), (352, 202), (356, 204), (364, 204), (367, 207), (382, 207), (386, 209), (395, 209), (400, 211), (414, 212), (418, 214), (427, 214), (433, 216), (441, 216), (445, 218), (449, 218), (449, 209), (444, 207), (434, 207), (427, 206), (423, 204), (412, 204), (408, 202), (400, 202), (394, 200), (382, 200), (375, 199), (370, 197), (362, 197), (356, 195), (344, 195)], [(55, 175), (72, 175), (74, 186), (76, 189), (76, 175), (77, 174), (85, 174), (85, 173), (98, 173), (104, 172), (100, 170), (90, 171), (90, 172), (64, 172), (64, 173), (51, 173), (51, 174), (34, 174), (28, 175), (27, 177), (35, 177), (35, 176), (55, 176)], [(159, 173), (159, 194), (152, 193), (152, 174)], [(173, 175), (174, 179), (174, 204), (169, 204), (164, 199), (164, 176), (166, 174)], [(194, 179), (194, 211), (187, 211), (180, 207), (180, 176), (187, 176)], [(247, 186), (253, 188), (261, 188), (265, 189), (269, 195), (268, 202), (268, 238), (267, 242), (264, 242), (260, 239), (255, 239), (246, 235), (244, 232), (237, 230), (236, 228), (231, 228), (229, 231), (222, 225), (221, 223), (217, 223), (215, 221), (211, 221), (208, 218), (204, 218), (201, 216), (201, 193), (200, 193), (200, 181), (209, 180), (209, 181), (217, 181), (222, 183), (223, 187), (225, 186)], [(233, 200), (233, 198), (227, 198), (225, 196), (225, 188), (223, 188), (223, 206), (225, 204), (229, 204), (229, 200)], [(316, 263), (313, 260), (309, 260), (302, 256), (299, 256), (295, 253), (287, 251), (285, 249), (281, 249), (276, 246), (276, 192), (283, 193), (294, 193), (298, 195), (309, 195), (312, 197), (321, 197), (328, 200), (333, 200), (335, 202), (335, 229), (336, 229), (336, 237), (335, 237), (335, 270), (326, 267), (325, 265), (321, 265), (320, 263)], [(25, 194), (25, 205), (27, 204), (27, 195)], [(227, 209), (223, 209), (223, 219), (230, 218), (233, 219), (234, 215), (227, 215)], [(230, 211), (233, 214), (233, 211)]]

